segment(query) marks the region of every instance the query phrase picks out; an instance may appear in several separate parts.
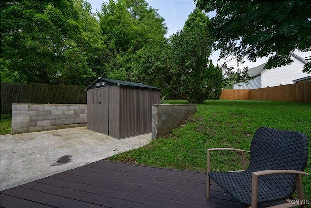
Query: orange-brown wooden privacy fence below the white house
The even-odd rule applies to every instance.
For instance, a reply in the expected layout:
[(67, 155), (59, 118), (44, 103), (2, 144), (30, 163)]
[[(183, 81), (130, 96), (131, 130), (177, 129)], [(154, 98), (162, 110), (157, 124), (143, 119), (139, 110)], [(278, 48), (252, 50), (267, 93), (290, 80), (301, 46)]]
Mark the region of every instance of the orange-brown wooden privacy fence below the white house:
[(311, 82), (249, 90), (223, 90), (221, 99), (311, 103)]

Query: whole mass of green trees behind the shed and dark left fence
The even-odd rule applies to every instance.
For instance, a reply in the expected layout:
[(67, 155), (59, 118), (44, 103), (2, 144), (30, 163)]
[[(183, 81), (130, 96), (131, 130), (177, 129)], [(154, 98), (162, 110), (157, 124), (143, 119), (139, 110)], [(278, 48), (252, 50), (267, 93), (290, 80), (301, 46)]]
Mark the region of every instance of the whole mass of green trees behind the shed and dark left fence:
[(199, 9), (165, 38), (164, 18), (145, 0), (104, 1), (96, 14), (87, 0), (3, 0), (0, 6), (1, 81), (86, 86), (101, 76), (200, 103), (218, 98), (231, 79), (224, 77), (233, 77), (226, 62), (211, 62), (215, 38)]

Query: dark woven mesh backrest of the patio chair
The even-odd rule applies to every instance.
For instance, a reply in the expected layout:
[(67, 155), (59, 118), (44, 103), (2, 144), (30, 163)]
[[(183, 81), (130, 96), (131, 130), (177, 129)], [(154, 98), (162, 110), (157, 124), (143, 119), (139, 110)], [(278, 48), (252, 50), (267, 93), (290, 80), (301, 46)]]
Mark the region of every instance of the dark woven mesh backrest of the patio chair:
[(308, 139), (301, 132), (260, 127), (251, 143), (249, 170), (303, 171), (308, 160)]

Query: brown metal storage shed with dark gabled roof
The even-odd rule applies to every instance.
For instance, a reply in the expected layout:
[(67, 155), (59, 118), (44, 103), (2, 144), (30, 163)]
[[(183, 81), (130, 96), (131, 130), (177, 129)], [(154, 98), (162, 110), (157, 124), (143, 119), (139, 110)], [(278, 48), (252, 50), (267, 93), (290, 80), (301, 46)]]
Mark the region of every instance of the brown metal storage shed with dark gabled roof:
[(151, 133), (160, 88), (99, 77), (87, 88), (87, 129), (120, 139)]

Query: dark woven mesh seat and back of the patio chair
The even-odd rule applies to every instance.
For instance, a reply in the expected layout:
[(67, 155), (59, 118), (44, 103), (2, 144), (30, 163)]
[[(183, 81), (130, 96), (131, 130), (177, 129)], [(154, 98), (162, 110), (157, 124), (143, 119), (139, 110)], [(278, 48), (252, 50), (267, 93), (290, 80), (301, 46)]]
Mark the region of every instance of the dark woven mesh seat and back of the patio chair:
[[(303, 171), (308, 160), (308, 140), (301, 132), (260, 127), (251, 143), (251, 159), (242, 172), (210, 172), (209, 177), (243, 205), (251, 205), (252, 172), (261, 170)], [(294, 174), (258, 178), (258, 201), (266, 203), (290, 197), (296, 189)]]

